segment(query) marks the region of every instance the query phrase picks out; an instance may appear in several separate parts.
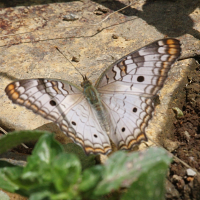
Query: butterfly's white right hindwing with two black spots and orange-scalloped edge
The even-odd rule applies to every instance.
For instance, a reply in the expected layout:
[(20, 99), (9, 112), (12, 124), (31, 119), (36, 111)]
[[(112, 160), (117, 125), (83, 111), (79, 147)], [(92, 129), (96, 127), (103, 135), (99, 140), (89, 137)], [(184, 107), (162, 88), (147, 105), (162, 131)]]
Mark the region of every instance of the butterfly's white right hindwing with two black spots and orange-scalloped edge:
[(151, 99), (119, 93), (102, 94), (101, 98), (115, 125), (110, 138), (118, 148), (131, 149), (147, 140), (145, 128), (153, 113)]

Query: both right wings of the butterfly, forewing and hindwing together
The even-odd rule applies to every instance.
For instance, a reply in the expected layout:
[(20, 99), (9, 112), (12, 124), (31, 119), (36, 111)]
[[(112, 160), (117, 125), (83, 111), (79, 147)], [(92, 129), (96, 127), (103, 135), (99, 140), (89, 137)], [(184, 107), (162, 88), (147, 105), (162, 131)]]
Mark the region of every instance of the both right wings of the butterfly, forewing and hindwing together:
[(154, 110), (153, 98), (181, 53), (180, 42), (153, 42), (113, 63), (96, 83), (114, 130), (110, 138), (121, 149), (147, 140), (145, 128)]

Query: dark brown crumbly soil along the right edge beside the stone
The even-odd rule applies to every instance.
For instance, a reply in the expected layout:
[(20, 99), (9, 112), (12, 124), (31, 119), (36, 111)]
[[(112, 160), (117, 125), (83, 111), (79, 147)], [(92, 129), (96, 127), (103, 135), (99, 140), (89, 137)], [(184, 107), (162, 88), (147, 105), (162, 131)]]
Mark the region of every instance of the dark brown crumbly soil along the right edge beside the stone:
[[(200, 63), (200, 57), (196, 58)], [(171, 190), (166, 194), (167, 200), (199, 200), (200, 175), (189, 176), (188, 168), (200, 171), (200, 65), (188, 74), (185, 86), (185, 101), (182, 105), (183, 116), (174, 122), (174, 140), (179, 144), (172, 153), (189, 166), (172, 162), (168, 180)]]

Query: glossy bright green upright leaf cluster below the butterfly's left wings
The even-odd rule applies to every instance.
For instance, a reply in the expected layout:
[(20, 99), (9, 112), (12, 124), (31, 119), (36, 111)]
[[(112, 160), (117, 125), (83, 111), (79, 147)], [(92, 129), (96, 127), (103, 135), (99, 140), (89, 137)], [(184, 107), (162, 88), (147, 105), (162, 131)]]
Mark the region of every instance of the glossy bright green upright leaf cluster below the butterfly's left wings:
[(43, 135), (36, 144), (21, 176), (31, 199), (78, 198), (77, 182), (81, 164), (75, 155), (64, 152), (53, 134)]

